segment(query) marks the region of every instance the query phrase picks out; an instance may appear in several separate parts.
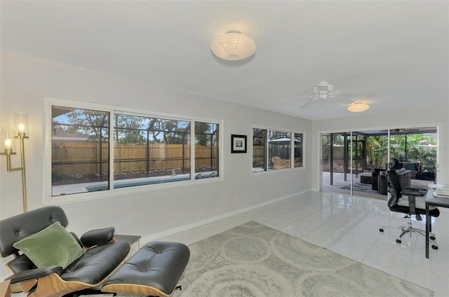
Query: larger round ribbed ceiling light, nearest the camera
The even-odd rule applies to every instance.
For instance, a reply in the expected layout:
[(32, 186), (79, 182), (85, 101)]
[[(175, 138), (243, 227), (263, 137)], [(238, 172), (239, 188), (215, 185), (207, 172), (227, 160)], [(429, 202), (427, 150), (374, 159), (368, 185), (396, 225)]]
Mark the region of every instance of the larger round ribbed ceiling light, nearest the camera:
[(223, 60), (239, 61), (254, 55), (255, 42), (245, 34), (231, 30), (218, 36), (210, 45), (210, 49)]

